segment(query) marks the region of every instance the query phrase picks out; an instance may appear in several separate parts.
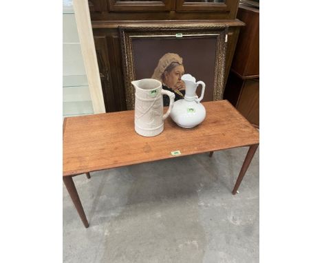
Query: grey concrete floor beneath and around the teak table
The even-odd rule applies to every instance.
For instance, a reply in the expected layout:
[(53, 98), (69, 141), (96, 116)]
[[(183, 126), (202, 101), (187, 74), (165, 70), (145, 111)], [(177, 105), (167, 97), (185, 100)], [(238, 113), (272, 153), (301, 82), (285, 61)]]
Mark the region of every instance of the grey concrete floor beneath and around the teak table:
[(259, 262), (259, 149), (231, 193), (247, 150), (76, 176), (89, 228), (63, 186), (63, 261)]

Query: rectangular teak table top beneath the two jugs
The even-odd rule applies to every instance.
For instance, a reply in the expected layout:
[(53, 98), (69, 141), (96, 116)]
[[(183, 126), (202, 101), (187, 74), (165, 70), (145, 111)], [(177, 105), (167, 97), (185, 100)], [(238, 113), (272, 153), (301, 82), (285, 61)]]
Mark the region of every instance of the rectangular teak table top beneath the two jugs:
[[(136, 133), (133, 110), (65, 118), (63, 176), (259, 143), (257, 129), (228, 101), (202, 105), (200, 125), (184, 129), (169, 117), (155, 137)], [(171, 155), (177, 150), (180, 155)]]

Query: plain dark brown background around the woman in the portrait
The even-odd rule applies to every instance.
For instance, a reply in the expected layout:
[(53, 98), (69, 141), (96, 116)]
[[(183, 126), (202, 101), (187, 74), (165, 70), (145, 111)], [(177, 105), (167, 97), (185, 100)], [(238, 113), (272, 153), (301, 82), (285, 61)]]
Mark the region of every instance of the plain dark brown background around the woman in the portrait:
[[(159, 59), (166, 53), (176, 53), (183, 59), (184, 72), (206, 84), (202, 101), (213, 101), (216, 38), (132, 39), (136, 79), (151, 78)], [(199, 96), (201, 87), (197, 88)]]

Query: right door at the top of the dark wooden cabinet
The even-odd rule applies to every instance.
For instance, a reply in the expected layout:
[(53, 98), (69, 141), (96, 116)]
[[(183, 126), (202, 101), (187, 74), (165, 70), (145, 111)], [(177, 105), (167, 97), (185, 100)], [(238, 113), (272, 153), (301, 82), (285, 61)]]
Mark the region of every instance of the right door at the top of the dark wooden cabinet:
[(176, 11), (229, 12), (239, 0), (176, 0)]

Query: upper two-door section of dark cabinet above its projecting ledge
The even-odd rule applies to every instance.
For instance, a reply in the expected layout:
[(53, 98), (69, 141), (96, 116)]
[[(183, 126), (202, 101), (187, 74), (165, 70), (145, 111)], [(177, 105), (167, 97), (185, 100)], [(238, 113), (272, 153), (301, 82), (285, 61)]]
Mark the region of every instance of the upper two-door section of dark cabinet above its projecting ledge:
[(238, 0), (89, 0), (89, 10), (93, 21), (235, 19), (238, 2)]

